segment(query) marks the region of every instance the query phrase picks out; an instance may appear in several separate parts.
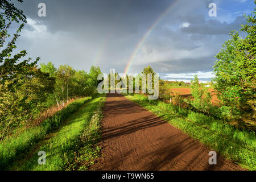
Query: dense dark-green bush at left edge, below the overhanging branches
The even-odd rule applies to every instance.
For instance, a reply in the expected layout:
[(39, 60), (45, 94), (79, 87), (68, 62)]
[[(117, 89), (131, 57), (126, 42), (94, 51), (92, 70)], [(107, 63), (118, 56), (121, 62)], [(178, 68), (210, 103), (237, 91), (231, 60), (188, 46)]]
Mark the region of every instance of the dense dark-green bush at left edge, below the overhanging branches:
[(29, 75), (20, 73), (17, 78), (11, 89), (9, 82), (0, 85), (1, 137), (21, 121), (30, 121), (34, 114), (39, 113), (55, 84), (54, 78), (36, 68)]

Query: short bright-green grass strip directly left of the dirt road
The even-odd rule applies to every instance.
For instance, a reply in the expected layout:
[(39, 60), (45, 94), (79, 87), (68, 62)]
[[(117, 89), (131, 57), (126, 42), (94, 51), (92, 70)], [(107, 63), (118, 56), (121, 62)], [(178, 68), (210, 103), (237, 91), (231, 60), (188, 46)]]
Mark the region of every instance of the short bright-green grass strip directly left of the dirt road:
[[(39, 142), (23, 160), (19, 160), (11, 169), (14, 170), (63, 170), (76, 156), (80, 145), (80, 136), (89, 126), (94, 111), (102, 97), (86, 102), (76, 113), (71, 114), (59, 127)], [(38, 164), (38, 152), (46, 152), (46, 164)]]

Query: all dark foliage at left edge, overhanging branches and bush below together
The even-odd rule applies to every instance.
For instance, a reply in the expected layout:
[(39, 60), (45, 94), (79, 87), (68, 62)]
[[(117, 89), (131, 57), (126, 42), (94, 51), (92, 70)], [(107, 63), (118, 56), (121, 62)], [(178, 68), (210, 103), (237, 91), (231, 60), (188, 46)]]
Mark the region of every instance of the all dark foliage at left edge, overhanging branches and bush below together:
[[(22, 2), (22, 1), (19, 1)], [(8, 1), (0, 3), (0, 138), (9, 133), (13, 127), (22, 121), (30, 121), (34, 114), (43, 107), (49, 94), (52, 93), (55, 79), (47, 73), (41, 72), (36, 61), (30, 63), (31, 59), (21, 61), (27, 55), (25, 50), (12, 56), (15, 43), (24, 24), (20, 24), (18, 30), (10, 39), (8, 29), (13, 21), (26, 23), (26, 16), (21, 10), (16, 9)], [(9, 21), (9, 22), (7, 22)]]

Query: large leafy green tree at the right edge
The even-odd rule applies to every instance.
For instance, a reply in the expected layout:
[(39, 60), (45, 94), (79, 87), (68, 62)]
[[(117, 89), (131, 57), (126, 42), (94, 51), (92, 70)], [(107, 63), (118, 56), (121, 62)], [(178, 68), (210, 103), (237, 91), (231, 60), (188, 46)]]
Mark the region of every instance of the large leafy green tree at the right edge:
[(253, 14), (245, 15), (246, 22), (251, 23), (242, 26), (241, 30), (247, 33), (246, 38), (242, 39), (238, 32), (232, 31), (231, 39), (225, 42), (216, 55), (218, 60), (213, 67), (218, 99), (222, 105), (234, 109), (255, 109), (255, 11)]

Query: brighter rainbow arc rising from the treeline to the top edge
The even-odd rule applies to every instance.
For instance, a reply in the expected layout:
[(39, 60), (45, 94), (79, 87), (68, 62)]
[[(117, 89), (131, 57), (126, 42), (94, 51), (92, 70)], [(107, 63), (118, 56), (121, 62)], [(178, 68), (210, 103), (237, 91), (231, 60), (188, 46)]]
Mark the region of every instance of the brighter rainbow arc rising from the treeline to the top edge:
[(125, 75), (127, 75), (130, 67), (131, 67), (131, 63), (133, 63), (134, 57), (135, 55), (138, 53), (139, 49), (141, 48), (142, 44), (144, 43), (144, 41), (147, 39), (148, 35), (150, 35), (151, 31), (156, 27), (156, 25), (160, 22), (161, 19), (164, 18), (164, 16), (166, 16), (169, 11), (172, 9), (172, 7), (174, 7), (177, 3), (179, 2), (179, 0), (175, 0), (174, 2), (171, 3), (170, 6), (168, 6), (168, 8), (159, 16), (158, 19), (156, 19), (156, 21), (152, 24), (152, 26), (148, 29), (148, 31), (146, 32), (146, 34), (144, 34), (144, 36), (142, 37), (142, 39), (139, 41), (139, 43), (137, 44), (137, 47), (134, 49), (133, 54), (131, 55), (128, 64), (126, 65), (125, 68)]

